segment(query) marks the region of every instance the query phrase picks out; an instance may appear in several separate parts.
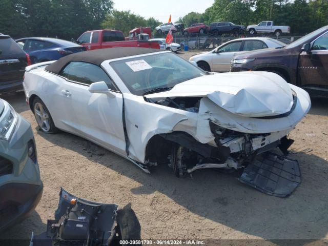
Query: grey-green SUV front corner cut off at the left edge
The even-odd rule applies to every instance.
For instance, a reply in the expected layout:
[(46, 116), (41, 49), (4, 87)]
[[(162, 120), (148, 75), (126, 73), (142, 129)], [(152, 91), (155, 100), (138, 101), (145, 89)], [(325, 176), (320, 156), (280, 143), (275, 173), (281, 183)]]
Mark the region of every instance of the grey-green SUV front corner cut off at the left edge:
[(33, 211), (42, 192), (31, 125), (0, 99), (0, 231)]

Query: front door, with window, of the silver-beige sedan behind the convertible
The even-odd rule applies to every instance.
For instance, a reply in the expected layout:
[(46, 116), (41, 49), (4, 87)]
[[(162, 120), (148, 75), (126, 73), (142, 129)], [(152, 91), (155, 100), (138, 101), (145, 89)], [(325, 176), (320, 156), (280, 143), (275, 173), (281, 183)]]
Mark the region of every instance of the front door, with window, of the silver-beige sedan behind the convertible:
[(214, 72), (229, 72), (231, 60), (238, 55), (241, 47), (241, 41), (231, 42), (218, 47), (217, 52), (212, 55)]

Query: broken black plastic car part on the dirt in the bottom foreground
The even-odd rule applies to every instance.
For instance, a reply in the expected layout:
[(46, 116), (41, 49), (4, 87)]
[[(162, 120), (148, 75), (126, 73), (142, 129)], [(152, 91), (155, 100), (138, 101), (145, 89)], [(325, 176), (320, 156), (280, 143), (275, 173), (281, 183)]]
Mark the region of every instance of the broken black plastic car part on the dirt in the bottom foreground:
[(118, 209), (116, 204), (80, 199), (61, 188), (55, 219), (48, 220), (46, 232), (32, 234), (30, 246), (115, 246), (122, 240), (141, 245), (140, 224), (130, 203)]

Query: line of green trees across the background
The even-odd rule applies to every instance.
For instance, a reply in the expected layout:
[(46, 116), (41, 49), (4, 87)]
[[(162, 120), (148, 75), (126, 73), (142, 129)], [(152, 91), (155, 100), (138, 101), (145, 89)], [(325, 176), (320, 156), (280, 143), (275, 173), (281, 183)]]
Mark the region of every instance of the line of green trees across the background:
[[(121, 30), (128, 35), (135, 27), (154, 30), (161, 24), (154, 17), (146, 19), (131, 11), (115, 10), (112, 0), (0, 0), (0, 6), (0, 32), (14, 38), (71, 39), (100, 28)], [(191, 12), (177, 23), (188, 27), (194, 23), (229, 21), (247, 26), (262, 20), (291, 26), (292, 34), (304, 35), (328, 25), (328, 1), (215, 0), (204, 13)]]

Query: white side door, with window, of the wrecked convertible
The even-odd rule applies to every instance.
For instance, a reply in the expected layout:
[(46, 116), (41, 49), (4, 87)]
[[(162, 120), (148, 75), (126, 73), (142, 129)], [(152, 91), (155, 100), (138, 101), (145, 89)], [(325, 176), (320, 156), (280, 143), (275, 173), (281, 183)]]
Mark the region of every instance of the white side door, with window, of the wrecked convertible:
[(61, 121), (68, 131), (86, 137), (96, 144), (125, 155), (125, 135), (122, 124), (123, 99), (89, 92), (89, 85), (105, 81), (113, 91), (115, 86), (100, 67), (72, 61), (60, 72), (63, 78), (63, 115)]

